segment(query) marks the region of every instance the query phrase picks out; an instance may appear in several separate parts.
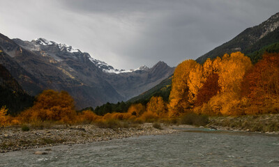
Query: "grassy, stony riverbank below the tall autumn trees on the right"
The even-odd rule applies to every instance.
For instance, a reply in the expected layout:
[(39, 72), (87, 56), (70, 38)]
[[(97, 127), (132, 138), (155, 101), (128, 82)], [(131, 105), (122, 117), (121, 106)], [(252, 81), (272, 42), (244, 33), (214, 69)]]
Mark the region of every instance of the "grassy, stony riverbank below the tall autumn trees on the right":
[(209, 117), (209, 124), (206, 125), (206, 127), (213, 129), (279, 134), (279, 114)]

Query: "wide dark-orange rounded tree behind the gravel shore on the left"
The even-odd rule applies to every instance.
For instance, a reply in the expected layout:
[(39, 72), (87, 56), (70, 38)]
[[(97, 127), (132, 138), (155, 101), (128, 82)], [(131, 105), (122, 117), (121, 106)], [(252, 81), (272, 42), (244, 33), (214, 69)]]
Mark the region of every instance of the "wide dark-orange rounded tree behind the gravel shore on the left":
[(73, 97), (63, 90), (44, 90), (38, 95), (34, 105), (20, 114), (25, 122), (48, 120), (71, 123), (75, 122), (75, 116)]

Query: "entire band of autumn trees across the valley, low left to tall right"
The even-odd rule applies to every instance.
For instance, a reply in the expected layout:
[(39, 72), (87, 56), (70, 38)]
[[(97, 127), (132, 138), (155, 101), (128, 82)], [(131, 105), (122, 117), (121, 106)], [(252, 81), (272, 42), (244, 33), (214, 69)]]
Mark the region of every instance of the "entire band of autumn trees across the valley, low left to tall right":
[(104, 104), (75, 111), (66, 91), (45, 90), (33, 106), (16, 117), (0, 110), (1, 125), (31, 122), (92, 123), (108, 120), (152, 122), (178, 118), (186, 113), (207, 116), (241, 116), (279, 113), (279, 54), (265, 53), (255, 65), (241, 52), (180, 63), (172, 77), (169, 100), (151, 97), (137, 103)]

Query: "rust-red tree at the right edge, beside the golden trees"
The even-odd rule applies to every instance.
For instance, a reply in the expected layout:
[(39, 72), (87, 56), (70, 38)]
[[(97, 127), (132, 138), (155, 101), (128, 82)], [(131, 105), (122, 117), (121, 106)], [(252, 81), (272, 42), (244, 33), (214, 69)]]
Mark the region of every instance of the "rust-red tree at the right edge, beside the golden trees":
[(262, 60), (247, 72), (242, 95), (248, 97), (247, 114), (279, 112), (279, 54), (263, 55)]

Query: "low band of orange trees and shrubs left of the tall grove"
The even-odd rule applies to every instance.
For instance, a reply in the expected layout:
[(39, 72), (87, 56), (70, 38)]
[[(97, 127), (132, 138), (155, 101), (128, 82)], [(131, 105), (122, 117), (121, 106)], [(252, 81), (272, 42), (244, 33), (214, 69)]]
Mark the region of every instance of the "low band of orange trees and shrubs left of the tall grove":
[[(29, 109), (17, 116), (7, 114), (8, 109), (0, 109), (0, 125), (35, 124), (56, 122), (62, 124), (84, 124), (93, 122), (107, 122), (111, 120), (126, 120), (129, 122), (153, 122), (158, 118), (167, 117), (165, 102), (162, 97), (152, 97), (144, 106), (119, 102), (107, 103), (92, 110), (91, 107), (82, 111), (75, 110), (75, 102), (66, 91), (44, 90), (36, 97)], [(119, 111), (119, 112), (116, 112)], [(96, 113), (98, 113), (98, 115)]]

